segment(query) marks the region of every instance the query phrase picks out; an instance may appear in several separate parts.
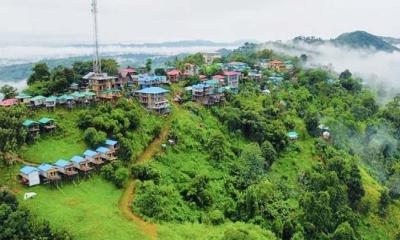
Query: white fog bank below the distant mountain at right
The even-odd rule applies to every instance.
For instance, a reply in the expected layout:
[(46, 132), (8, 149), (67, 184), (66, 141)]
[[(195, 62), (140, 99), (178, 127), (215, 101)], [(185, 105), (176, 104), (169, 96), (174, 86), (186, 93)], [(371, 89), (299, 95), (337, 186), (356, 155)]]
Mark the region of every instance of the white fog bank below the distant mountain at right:
[(337, 73), (349, 69), (377, 92), (380, 101), (400, 93), (400, 52), (337, 47), (329, 43), (267, 43), (265, 47), (294, 56), (304, 53), (308, 56), (308, 65), (331, 66)]

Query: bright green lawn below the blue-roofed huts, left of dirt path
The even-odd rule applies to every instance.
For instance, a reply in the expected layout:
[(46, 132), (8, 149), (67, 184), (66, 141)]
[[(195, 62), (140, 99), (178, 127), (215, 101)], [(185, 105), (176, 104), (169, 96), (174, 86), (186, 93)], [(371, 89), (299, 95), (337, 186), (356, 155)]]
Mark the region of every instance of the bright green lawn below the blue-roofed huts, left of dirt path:
[[(122, 191), (100, 177), (65, 184), (59, 190), (39, 186), (26, 191), (38, 195), (28, 201), (21, 199), (22, 205), (76, 239), (147, 239), (134, 223), (122, 216), (118, 208)], [(23, 193), (19, 193), (20, 198)]]

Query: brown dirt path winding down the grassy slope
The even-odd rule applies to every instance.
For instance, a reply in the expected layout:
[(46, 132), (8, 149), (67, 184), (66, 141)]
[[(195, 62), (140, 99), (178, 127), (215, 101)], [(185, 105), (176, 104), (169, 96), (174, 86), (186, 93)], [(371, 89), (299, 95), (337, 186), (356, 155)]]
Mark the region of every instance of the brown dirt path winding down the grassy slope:
[[(165, 127), (161, 130), (159, 137), (153, 140), (153, 142), (140, 154), (140, 156), (136, 159), (135, 164), (151, 160), (153, 156), (160, 151), (161, 144), (167, 138), (168, 132), (169, 122), (165, 124)], [(119, 207), (127, 219), (133, 221), (144, 231), (146, 235), (155, 240), (157, 239), (157, 225), (144, 221), (141, 217), (132, 212), (132, 202), (135, 198), (135, 187), (136, 179), (132, 178), (129, 180), (125, 192), (121, 196)]]

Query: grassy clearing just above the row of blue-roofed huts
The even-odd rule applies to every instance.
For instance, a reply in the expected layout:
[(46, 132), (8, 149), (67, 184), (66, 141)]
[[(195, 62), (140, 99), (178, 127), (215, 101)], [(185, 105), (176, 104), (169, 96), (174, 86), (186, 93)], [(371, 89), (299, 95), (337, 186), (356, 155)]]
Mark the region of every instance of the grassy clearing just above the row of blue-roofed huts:
[(56, 109), (54, 112), (46, 110), (36, 111), (31, 118), (38, 120), (42, 117), (53, 118), (58, 126), (54, 134), (42, 134), (33, 144), (25, 145), (20, 155), (28, 161), (43, 163), (54, 162), (58, 159), (70, 159), (86, 150), (83, 141), (83, 132), (78, 128), (79, 110), (68, 111)]

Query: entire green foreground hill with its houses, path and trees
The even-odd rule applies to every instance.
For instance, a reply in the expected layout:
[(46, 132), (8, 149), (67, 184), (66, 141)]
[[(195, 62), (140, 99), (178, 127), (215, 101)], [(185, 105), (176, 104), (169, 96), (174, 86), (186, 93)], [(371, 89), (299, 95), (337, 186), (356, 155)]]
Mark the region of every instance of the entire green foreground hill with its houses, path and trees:
[(1, 89), (0, 239), (395, 239), (400, 99), (308, 66), (250, 43), (34, 65)]

